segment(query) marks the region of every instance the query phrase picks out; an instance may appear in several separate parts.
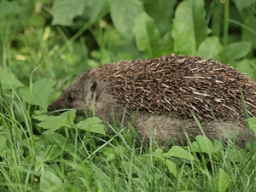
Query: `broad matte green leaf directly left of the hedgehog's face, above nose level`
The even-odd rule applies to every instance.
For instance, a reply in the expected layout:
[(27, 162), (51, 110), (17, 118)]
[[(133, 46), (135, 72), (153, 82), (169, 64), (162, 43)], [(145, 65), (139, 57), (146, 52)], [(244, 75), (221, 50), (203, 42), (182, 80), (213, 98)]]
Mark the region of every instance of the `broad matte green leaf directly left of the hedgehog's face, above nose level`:
[(20, 89), (20, 96), (32, 105), (38, 105), (46, 108), (48, 105), (48, 98), (53, 92), (55, 81), (52, 79), (40, 79), (32, 84), (32, 90), (29, 88)]

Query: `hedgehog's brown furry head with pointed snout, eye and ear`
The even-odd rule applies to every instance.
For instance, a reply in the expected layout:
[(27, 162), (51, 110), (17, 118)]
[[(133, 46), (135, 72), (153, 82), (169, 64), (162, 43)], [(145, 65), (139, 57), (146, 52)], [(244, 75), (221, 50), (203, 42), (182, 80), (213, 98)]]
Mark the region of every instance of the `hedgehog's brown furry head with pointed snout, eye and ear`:
[(84, 115), (84, 106), (89, 115), (92, 106), (96, 105), (99, 96), (99, 84), (95, 79), (90, 79), (88, 73), (83, 73), (70, 84), (66, 90), (48, 106), (48, 111), (74, 108), (78, 115)]

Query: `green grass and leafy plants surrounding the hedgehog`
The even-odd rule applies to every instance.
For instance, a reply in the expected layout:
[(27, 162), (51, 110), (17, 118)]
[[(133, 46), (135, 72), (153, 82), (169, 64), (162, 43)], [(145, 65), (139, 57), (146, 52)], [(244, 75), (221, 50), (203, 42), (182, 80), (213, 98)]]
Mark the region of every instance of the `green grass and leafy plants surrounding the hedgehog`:
[(202, 55), (256, 79), (255, 22), (255, 0), (1, 1), (0, 191), (254, 191), (253, 142), (161, 149), (46, 108), (79, 73), (120, 59)]

